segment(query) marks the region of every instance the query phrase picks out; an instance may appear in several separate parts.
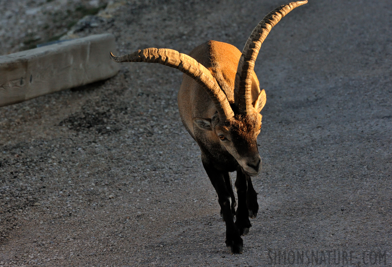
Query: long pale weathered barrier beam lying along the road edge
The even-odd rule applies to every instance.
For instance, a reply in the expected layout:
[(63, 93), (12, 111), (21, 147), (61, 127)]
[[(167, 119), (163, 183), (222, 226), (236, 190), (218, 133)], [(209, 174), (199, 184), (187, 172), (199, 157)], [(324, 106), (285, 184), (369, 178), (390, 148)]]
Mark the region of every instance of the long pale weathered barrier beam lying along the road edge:
[(0, 56), (0, 106), (110, 78), (115, 49), (112, 34), (98, 34)]

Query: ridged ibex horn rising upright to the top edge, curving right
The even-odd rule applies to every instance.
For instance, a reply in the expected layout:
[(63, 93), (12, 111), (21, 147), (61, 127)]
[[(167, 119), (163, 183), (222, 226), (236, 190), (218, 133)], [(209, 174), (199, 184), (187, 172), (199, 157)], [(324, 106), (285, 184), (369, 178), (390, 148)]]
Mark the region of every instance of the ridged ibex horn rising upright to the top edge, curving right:
[(238, 62), (236, 79), (234, 81), (234, 103), (238, 106), (241, 113), (251, 112), (252, 107), (252, 71), (254, 62), (260, 51), (261, 44), (271, 31), (272, 27), (281, 20), (287, 13), (300, 5), (306, 4), (308, 1), (291, 2), (282, 5), (270, 13), (253, 29), (244, 49), (240, 61)]

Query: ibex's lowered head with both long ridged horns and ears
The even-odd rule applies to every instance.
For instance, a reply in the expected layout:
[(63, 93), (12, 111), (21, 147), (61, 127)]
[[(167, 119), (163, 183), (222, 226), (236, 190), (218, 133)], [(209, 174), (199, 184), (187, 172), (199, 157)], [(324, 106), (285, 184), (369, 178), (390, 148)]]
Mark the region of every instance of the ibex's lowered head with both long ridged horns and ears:
[[(234, 103), (229, 103), (211, 72), (192, 57), (171, 49), (148, 48), (111, 57), (116, 62), (153, 62), (181, 70), (192, 77), (209, 94), (216, 107), (216, 114), (211, 118), (194, 118), (194, 125), (206, 131), (212, 131), (209, 142), (219, 144), (229, 152), (248, 175), (257, 175), (261, 170), (261, 158), (256, 137), (260, 133), (260, 111), (265, 105), (265, 91), (260, 92), (252, 102), (252, 77), (254, 62), (261, 44), (270, 30), (283, 16), (292, 9), (306, 4), (307, 1), (292, 2), (271, 11), (254, 28), (247, 40), (238, 62), (234, 82)], [(257, 85), (258, 86), (258, 85)]]

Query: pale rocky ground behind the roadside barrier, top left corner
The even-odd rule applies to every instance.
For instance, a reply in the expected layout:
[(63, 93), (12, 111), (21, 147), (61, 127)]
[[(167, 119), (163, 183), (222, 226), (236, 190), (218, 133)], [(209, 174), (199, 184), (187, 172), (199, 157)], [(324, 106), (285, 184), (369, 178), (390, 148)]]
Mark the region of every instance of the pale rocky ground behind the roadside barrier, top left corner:
[(106, 5), (104, 0), (1, 0), (0, 55), (58, 40), (71, 28), (79, 31), (83, 22), (74, 26), (81, 18), (97, 14)]

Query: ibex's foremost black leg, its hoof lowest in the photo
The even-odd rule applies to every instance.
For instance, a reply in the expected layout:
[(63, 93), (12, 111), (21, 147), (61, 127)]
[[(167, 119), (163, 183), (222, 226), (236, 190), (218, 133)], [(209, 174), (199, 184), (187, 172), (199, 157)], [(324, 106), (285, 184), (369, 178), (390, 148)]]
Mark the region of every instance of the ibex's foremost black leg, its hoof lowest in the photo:
[[(221, 214), (226, 224), (226, 246), (231, 254), (242, 253), (243, 241), (238, 232), (236, 225), (234, 224), (233, 216), (231, 213), (231, 196), (230, 191), (226, 187), (225, 175), (209, 162), (203, 161), (203, 166), (209, 179), (211, 180), (212, 186), (214, 186), (216, 193), (218, 194), (218, 202), (221, 207)], [(228, 175), (228, 173), (227, 173)]]

